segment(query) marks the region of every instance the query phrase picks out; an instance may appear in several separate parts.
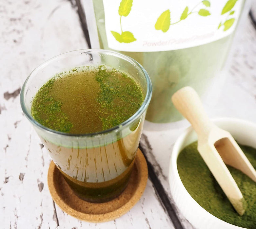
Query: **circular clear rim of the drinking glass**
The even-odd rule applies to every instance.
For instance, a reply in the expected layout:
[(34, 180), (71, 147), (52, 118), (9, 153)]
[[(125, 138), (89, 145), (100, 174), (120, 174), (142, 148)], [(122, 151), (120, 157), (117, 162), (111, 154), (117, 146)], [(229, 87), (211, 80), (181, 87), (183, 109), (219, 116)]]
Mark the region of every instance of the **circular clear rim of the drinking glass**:
[[(30, 77), (35, 74), (38, 70), (42, 69), (45, 65), (50, 64), (51, 62), (55, 61), (56, 59), (62, 57), (65, 54), (68, 53), (72, 53), (72, 52), (83, 52), (83, 53), (90, 53), (90, 52), (102, 52), (102, 53), (110, 53), (110, 54), (114, 54), (116, 56), (118, 56), (119, 58), (123, 58), (129, 62), (132, 62), (133, 64), (135, 64), (143, 73), (144, 77), (146, 78), (146, 82), (147, 82), (147, 93), (145, 96), (145, 99), (142, 103), (142, 105), (140, 106), (140, 108), (132, 115), (130, 116), (128, 119), (126, 119), (124, 122), (120, 123), (117, 126), (114, 126), (110, 129), (104, 130), (104, 131), (99, 131), (99, 132), (93, 132), (93, 133), (85, 133), (85, 134), (70, 134), (70, 133), (65, 133), (65, 132), (60, 132), (60, 131), (55, 131), (52, 130), (48, 127), (43, 126), (42, 124), (40, 124), (39, 122), (37, 122), (32, 115), (30, 115), (30, 112), (28, 111), (28, 109), (25, 106), (25, 87), (28, 83), (28, 80), (30, 79)], [(65, 52), (62, 54), (59, 54), (57, 56), (54, 56), (52, 58), (50, 58), (49, 60), (41, 63), (40, 65), (38, 65), (27, 77), (27, 79), (25, 80), (25, 82), (22, 85), (21, 88), (21, 92), (20, 92), (20, 104), (21, 104), (21, 108), (23, 113), (25, 114), (25, 116), (29, 119), (29, 121), (34, 124), (35, 126), (39, 127), (40, 129), (43, 129), (46, 132), (51, 132), (51, 133), (55, 133), (58, 135), (64, 135), (64, 136), (70, 136), (70, 137), (92, 137), (92, 136), (96, 136), (96, 135), (101, 135), (101, 134), (106, 134), (108, 132), (113, 132), (113, 131), (118, 131), (121, 130), (123, 128), (125, 128), (126, 126), (128, 126), (132, 121), (134, 121), (137, 117), (139, 117), (140, 115), (143, 114), (143, 112), (147, 109), (148, 104), (150, 102), (152, 96), (152, 84), (151, 84), (151, 80), (148, 76), (147, 71), (145, 70), (145, 68), (137, 61), (135, 61), (134, 59), (132, 59), (131, 57), (115, 52), (115, 51), (111, 51), (111, 50), (107, 50), (107, 49), (78, 49), (78, 50), (73, 50), (73, 51), (69, 51), (69, 52)]]

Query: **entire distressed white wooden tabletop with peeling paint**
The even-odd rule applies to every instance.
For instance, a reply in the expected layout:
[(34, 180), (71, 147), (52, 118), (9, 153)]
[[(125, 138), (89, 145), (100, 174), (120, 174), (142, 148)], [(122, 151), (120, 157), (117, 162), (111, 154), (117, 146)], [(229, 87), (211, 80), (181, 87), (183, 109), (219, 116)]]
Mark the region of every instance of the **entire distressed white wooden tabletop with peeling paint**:
[[(0, 228), (182, 228), (175, 215), (184, 228), (193, 228), (170, 204), (167, 181), (172, 146), (188, 126), (185, 120), (167, 125), (146, 122), (140, 147), (150, 179), (140, 201), (124, 216), (88, 223), (67, 215), (52, 201), (47, 186), (51, 159), (22, 114), (19, 92), (40, 63), (88, 47), (77, 2), (0, 2)], [(256, 15), (256, 3), (252, 12)], [(256, 122), (256, 29), (249, 16), (237, 31), (226, 69), (218, 97), (211, 92), (205, 102), (208, 114)]]

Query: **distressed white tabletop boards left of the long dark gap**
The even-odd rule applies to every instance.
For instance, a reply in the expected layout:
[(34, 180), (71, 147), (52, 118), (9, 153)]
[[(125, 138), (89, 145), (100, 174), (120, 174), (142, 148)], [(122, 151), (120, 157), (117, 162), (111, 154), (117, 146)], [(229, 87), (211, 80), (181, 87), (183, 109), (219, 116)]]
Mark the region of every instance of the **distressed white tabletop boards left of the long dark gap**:
[(0, 228), (173, 228), (152, 183), (124, 216), (87, 223), (64, 213), (50, 196), (50, 157), (22, 114), (21, 86), (47, 59), (87, 48), (76, 1), (0, 2)]

